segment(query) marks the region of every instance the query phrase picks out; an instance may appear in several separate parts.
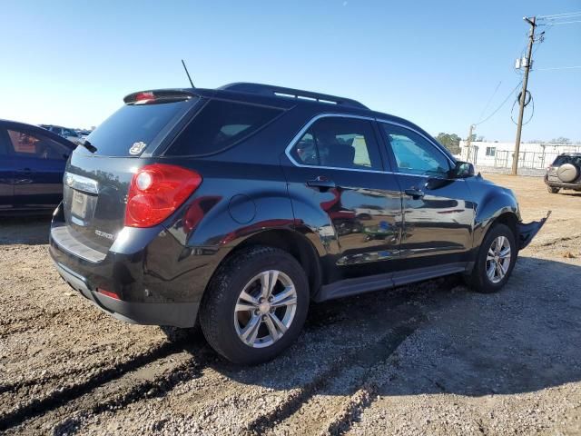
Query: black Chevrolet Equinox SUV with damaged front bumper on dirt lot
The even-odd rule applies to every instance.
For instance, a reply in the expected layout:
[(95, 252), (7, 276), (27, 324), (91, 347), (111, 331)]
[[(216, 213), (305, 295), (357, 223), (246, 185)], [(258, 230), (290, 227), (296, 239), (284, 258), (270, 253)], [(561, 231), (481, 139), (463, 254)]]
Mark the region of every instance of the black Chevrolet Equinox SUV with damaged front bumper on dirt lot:
[(50, 253), (128, 322), (271, 359), (323, 302), (452, 273), (508, 279), (545, 222), (415, 124), (264, 84), (130, 94), (72, 154)]

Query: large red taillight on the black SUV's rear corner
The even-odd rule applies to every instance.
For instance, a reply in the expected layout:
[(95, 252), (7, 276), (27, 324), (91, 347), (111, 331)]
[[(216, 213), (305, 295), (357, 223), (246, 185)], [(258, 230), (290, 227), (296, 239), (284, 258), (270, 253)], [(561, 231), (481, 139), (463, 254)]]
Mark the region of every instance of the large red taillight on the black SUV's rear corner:
[(125, 225), (152, 227), (161, 223), (185, 202), (202, 183), (202, 176), (177, 165), (153, 163), (133, 175)]

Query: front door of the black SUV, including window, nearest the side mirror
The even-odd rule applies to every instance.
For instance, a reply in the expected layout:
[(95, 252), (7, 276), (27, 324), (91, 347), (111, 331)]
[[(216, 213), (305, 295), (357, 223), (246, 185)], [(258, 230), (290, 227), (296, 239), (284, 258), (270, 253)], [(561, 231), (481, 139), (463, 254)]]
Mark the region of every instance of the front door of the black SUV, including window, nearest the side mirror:
[(402, 267), (466, 262), (475, 217), (468, 183), (451, 177), (455, 163), (427, 135), (400, 124), (379, 126), (402, 193)]

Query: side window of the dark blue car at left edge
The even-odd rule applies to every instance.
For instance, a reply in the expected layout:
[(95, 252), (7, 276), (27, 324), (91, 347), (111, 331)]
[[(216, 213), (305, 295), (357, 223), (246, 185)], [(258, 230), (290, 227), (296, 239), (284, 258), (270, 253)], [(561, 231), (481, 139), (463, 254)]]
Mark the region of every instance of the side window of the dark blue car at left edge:
[(10, 148), (13, 154), (24, 157), (34, 157), (37, 159), (66, 159), (65, 156), (71, 151), (62, 144), (58, 144), (42, 134), (29, 134), (8, 129)]

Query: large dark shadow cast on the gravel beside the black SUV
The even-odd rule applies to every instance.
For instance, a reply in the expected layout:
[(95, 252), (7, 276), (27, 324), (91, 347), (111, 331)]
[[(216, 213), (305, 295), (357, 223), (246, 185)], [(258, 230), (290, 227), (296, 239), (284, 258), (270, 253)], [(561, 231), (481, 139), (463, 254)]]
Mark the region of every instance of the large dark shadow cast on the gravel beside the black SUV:
[(496, 294), (452, 276), (317, 304), (279, 358), (209, 364), (244, 384), (302, 388), (307, 399), (351, 395), (378, 371), (391, 374), (383, 395), (539, 391), (581, 380), (578, 277), (581, 266), (522, 257)]

